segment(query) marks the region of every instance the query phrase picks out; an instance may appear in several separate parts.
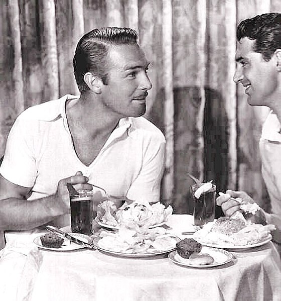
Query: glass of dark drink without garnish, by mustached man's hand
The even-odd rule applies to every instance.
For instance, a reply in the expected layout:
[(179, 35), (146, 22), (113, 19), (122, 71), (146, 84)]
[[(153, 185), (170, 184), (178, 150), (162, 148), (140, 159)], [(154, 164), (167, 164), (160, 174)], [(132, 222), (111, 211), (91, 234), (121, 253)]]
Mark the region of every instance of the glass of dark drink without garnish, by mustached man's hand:
[(92, 235), (93, 192), (80, 190), (70, 196), (71, 232)]

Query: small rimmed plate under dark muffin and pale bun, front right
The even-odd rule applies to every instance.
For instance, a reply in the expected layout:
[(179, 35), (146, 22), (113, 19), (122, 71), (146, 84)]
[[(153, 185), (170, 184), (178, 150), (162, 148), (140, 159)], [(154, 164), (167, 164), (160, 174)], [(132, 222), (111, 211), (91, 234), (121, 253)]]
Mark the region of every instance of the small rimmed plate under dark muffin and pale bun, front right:
[(202, 247), (201, 253), (209, 254), (210, 256), (212, 256), (214, 258), (214, 262), (205, 265), (191, 264), (190, 260), (181, 257), (178, 254), (177, 250), (169, 253), (168, 258), (176, 264), (188, 266), (188, 267), (194, 267), (194, 268), (209, 268), (209, 267), (219, 266), (219, 265), (226, 264), (233, 259), (233, 254), (217, 248)]

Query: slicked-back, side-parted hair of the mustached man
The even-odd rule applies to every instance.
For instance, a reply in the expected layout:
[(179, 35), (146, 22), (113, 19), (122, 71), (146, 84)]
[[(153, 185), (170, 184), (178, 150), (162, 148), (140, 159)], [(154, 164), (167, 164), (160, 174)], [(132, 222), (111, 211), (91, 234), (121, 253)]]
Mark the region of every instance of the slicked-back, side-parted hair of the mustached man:
[(111, 45), (137, 44), (137, 33), (131, 28), (103, 27), (86, 33), (78, 42), (73, 57), (74, 75), (80, 92), (89, 89), (84, 81), (91, 72), (107, 84), (107, 53)]

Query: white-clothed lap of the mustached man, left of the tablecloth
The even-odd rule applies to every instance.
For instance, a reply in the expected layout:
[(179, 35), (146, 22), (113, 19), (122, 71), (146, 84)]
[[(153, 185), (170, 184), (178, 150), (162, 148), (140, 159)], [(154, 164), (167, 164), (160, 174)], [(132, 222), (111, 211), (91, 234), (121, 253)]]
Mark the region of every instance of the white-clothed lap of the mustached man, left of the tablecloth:
[(8, 243), (0, 251), (0, 300), (29, 301), (41, 263), (36, 246)]

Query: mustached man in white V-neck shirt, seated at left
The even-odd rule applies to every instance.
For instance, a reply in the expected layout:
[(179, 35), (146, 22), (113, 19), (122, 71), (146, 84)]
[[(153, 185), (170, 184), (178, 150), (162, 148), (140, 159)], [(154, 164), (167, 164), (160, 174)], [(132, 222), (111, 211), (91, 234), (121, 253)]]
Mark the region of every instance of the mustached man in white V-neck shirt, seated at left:
[(11, 129), (0, 167), (0, 230), (69, 225), (67, 183), (159, 200), (165, 138), (141, 117), (152, 88), (148, 66), (132, 29), (94, 29), (80, 39), (73, 67), (81, 95), (31, 107)]

